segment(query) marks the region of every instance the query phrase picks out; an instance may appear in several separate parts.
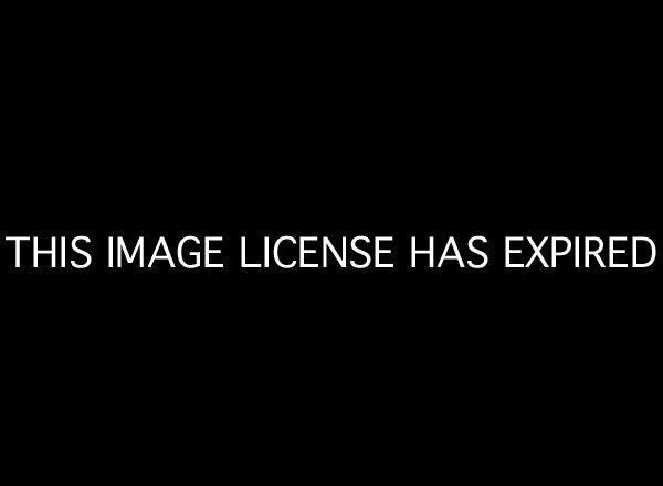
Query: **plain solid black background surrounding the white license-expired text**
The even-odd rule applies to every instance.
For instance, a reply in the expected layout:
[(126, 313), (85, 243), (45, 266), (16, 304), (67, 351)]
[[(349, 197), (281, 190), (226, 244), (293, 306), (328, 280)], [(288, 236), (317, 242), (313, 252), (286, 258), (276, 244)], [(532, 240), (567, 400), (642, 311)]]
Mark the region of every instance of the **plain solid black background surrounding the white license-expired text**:
[[(657, 430), (660, 262), (508, 272), (501, 242), (660, 247), (655, 32), (273, 13), (33, 12), (3, 61), (2, 235), (392, 234), (399, 268), (13, 272), (3, 253), (12, 456), (633, 474)], [(410, 235), (474, 234), (486, 271), (407, 268)]]

